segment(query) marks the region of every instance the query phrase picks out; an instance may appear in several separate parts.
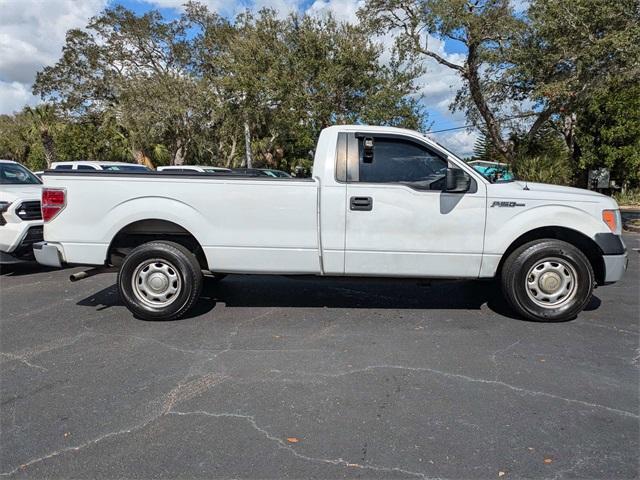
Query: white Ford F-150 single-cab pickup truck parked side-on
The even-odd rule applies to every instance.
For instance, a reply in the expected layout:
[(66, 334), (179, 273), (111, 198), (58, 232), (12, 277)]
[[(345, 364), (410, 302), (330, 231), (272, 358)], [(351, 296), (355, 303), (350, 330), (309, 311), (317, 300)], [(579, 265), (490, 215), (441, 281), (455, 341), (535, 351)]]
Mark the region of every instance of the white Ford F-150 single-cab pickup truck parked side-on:
[(335, 126), (313, 178), (44, 174), (45, 265), (119, 268), (122, 300), (178, 318), (202, 271), (500, 278), (528, 319), (575, 317), (627, 265), (616, 202), (587, 190), (492, 183), (422, 134)]

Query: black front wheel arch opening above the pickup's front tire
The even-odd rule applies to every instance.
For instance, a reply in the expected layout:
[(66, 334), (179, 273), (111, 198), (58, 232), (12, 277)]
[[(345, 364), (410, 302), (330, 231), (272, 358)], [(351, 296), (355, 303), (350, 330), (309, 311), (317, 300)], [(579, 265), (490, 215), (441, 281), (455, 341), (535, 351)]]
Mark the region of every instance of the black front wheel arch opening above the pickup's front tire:
[(596, 276), (596, 282), (598, 285), (604, 284), (606, 271), (604, 259), (602, 258), (602, 249), (598, 246), (595, 240), (589, 238), (587, 235), (572, 228), (560, 226), (535, 228), (516, 238), (502, 255), (500, 263), (498, 264), (498, 269), (496, 270), (496, 276), (501, 274), (504, 262), (518, 247), (534, 240), (543, 240), (548, 238), (567, 242), (584, 253), (593, 268), (593, 272)]

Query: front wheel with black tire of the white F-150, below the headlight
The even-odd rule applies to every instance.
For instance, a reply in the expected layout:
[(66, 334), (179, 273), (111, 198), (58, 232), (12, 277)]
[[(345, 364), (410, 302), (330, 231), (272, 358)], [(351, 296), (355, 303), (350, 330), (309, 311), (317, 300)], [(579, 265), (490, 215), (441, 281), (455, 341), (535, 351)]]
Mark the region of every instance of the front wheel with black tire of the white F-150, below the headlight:
[[(560, 272), (557, 278), (547, 277), (551, 285), (562, 285), (552, 291), (552, 299), (560, 296), (555, 303), (545, 298), (547, 291), (542, 287), (548, 284), (540, 283), (543, 279), (538, 277), (538, 272), (546, 272), (546, 265), (550, 272), (547, 275)], [(595, 275), (587, 257), (576, 247), (561, 240), (542, 239), (526, 243), (509, 255), (502, 267), (501, 285), (509, 305), (524, 318), (561, 322), (574, 319), (587, 306)]]

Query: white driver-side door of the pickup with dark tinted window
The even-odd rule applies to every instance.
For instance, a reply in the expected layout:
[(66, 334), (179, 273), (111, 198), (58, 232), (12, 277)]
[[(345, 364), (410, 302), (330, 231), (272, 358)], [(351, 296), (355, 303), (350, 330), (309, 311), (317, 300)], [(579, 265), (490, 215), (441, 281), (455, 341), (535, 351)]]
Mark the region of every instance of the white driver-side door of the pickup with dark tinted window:
[(478, 277), (484, 184), (472, 176), (468, 192), (447, 193), (451, 159), (426, 142), (349, 135), (345, 274)]

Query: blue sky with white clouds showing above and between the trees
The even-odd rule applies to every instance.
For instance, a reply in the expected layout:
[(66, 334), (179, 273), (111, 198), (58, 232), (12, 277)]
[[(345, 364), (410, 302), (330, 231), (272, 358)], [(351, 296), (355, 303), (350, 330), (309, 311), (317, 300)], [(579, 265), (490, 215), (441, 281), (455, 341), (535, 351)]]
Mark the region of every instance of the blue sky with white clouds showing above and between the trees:
[[(0, 114), (35, 105), (39, 98), (31, 94), (35, 75), (61, 55), (65, 33), (81, 28), (87, 20), (107, 6), (123, 5), (138, 13), (158, 8), (167, 18), (179, 14), (186, 0), (0, 0)], [(363, 0), (200, 0), (222, 15), (233, 17), (244, 10), (270, 7), (280, 14), (291, 11), (323, 15), (357, 22), (356, 11)], [(464, 49), (453, 42), (430, 39), (432, 47), (447, 60), (462, 63)], [(417, 84), (429, 113), (431, 130), (464, 126), (462, 113), (452, 114), (449, 104), (461, 81), (454, 71), (425, 59), (426, 74)], [(433, 138), (454, 153), (467, 156), (477, 138), (466, 129), (434, 133)]]

